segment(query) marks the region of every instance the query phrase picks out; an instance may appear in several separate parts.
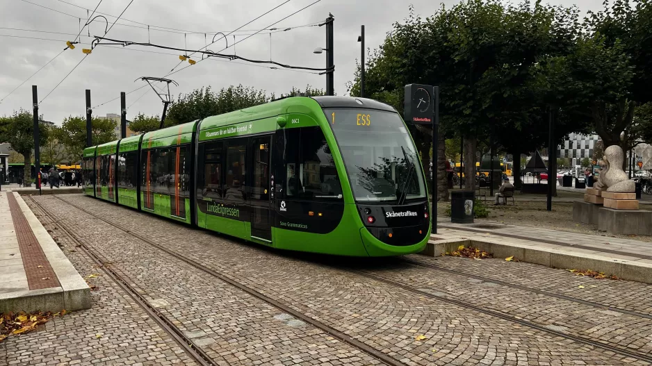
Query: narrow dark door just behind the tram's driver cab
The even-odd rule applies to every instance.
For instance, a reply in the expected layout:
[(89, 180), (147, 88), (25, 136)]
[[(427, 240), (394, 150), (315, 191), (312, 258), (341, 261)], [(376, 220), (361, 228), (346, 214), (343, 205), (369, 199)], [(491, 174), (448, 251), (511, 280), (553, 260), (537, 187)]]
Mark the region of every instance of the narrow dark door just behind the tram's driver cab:
[(250, 202), (252, 208), (252, 236), (272, 240), (270, 217), (270, 145), (271, 136), (252, 138), (253, 183)]

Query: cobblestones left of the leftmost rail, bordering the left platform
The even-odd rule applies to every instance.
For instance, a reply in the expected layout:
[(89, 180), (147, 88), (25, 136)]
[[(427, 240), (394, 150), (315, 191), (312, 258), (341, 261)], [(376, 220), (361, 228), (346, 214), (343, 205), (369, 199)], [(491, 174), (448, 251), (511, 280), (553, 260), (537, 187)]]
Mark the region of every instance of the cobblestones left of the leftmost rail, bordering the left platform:
[[(54, 230), (51, 235), (82, 276), (101, 273), (65, 234)], [(38, 331), (10, 336), (0, 343), (0, 365), (196, 365), (108, 276), (88, 282), (97, 286), (91, 292), (92, 308), (51, 319)]]

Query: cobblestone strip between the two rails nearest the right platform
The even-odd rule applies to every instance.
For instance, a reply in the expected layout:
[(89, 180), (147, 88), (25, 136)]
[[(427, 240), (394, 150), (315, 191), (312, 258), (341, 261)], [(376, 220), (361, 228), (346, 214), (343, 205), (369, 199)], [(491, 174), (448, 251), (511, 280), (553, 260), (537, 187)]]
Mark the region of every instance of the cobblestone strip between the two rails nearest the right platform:
[[(441, 260), (441, 263), (439, 260), (434, 262), (446, 268), (447, 263), (457, 261), (468, 262), (470, 260), (448, 257)], [(433, 261), (430, 260), (430, 262), (432, 264)], [(487, 259), (483, 260), (483, 262), (487, 262), (483, 263), (483, 265), (490, 265), (491, 262), (500, 263), (500, 260)], [(505, 260), (502, 260), (502, 262), (506, 263)], [(503, 273), (519, 271), (519, 268), (514, 268), (519, 267), (518, 265), (510, 268), (505, 265), (500, 267)], [(529, 272), (538, 272), (539, 268), (532, 268), (529, 265), (521, 267), (520, 270), (522, 271), (521, 276), (527, 278)], [(400, 260), (393, 261), (393, 263), (385, 265), (382, 269), (372, 268), (366, 272), (400, 281), (414, 288), (434, 293), (437, 296), (452, 297), (476, 306), (509, 314), (518, 319), (525, 319), (554, 331), (600, 340), (605, 344), (617, 345), (623, 349), (637, 350), (643, 354), (652, 353), (652, 319), (648, 317), (619, 313), (600, 307), (596, 308), (596, 306), (585, 303), (577, 303), (521, 289), (514, 290), (514, 288), (505, 285), (459, 274), (445, 273), (437, 271), (437, 269), (419, 267)], [(553, 270), (552, 272), (560, 271)], [(468, 273), (477, 274), (482, 272)], [(604, 291), (604, 288), (600, 288), (607, 281), (610, 280), (567, 278), (565, 287), (572, 286), (571, 290), (574, 292), (582, 292), (587, 288), (591, 291)], [(584, 286), (584, 288), (578, 288), (580, 285)], [(531, 287), (532, 285), (528, 286)], [(552, 292), (559, 293), (557, 291)], [(646, 301), (651, 301), (651, 299), (652, 297), (648, 297)]]

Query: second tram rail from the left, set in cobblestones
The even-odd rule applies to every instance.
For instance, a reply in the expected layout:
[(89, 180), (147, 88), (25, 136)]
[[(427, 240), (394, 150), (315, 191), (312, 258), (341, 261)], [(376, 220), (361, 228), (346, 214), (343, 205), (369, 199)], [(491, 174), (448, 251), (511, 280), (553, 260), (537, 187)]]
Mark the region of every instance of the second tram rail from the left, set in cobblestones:
[[(156, 242), (153, 242), (152, 240), (149, 240), (148, 238), (145, 238), (144, 236), (134, 233), (133, 231), (123, 228), (119, 224), (116, 224), (115, 222), (111, 221), (110, 219), (106, 219), (105, 217), (101, 217), (100, 215), (97, 215), (96, 213), (91, 212), (90, 210), (86, 210), (85, 208), (76, 205), (75, 203), (72, 203), (70, 201), (66, 201), (65, 199), (58, 197), (58, 195), (54, 194), (53, 197), (56, 199), (59, 199), (60, 201), (63, 201), (64, 203), (73, 206), (74, 208), (77, 208), (78, 210), (81, 210), (83, 213), (86, 213), (88, 215), (91, 215), (92, 217), (95, 217), (96, 219), (99, 219), (103, 222), (106, 222), (106, 224), (109, 224), (115, 228), (117, 228), (120, 231), (123, 231), (124, 233), (127, 233), (134, 238), (137, 238), (138, 240), (141, 240), (142, 242), (146, 242), (149, 245), (152, 245), (152, 247), (155, 247), (156, 249), (160, 249), (161, 251), (164, 251), (165, 253), (168, 253), (170, 256), (173, 256), (174, 258), (177, 258), (181, 260), (182, 262), (195, 267), (196, 269), (201, 270), (202, 272), (205, 272), (206, 274), (210, 274), (211, 276), (218, 278), (220, 281), (227, 283), (228, 285), (233, 286), (234, 288), (237, 288), (238, 290), (241, 290), (247, 294), (250, 294), (252, 297), (255, 297), (256, 299), (259, 299), (261, 301), (264, 301), (271, 306), (281, 310), (284, 313), (287, 313), (289, 315), (292, 315), (293, 317), (302, 320), (302, 322), (305, 322), (307, 324), (310, 324), (311, 326), (314, 326), (315, 328), (320, 329), (321, 331), (324, 331), (328, 335), (331, 335), (332, 337), (336, 338), (337, 340), (340, 340), (341, 342), (350, 345), (351, 347), (354, 347), (355, 349), (358, 349), (361, 352), (366, 353), (368, 356), (375, 358), (376, 360), (380, 361), (384, 365), (388, 366), (406, 366), (405, 363), (400, 362), (399, 360), (396, 360), (396, 358), (393, 358), (392, 356), (386, 355), (385, 353), (382, 353), (381, 351), (368, 346), (368, 344), (365, 344), (364, 342), (361, 342), (359, 340), (356, 340), (355, 338), (352, 338), (350, 335), (347, 335), (341, 331), (336, 330), (335, 328), (332, 328), (331, 326), (320, 322), (316, 319), (313, 319), (309, 317), (308, 315), (305, 315), (301, 313), (298, 310), (295, 310), (291, 308), (290, 306), (287, 306), (286, 304), (279, 302), (275, 299), (272, 299), (271, 297), (268, 297), (265, 294), (262, 294), (261, 292), (254, 290), (254, 288), (250, 288), (247, 285), (244, 285), (243, 283), (239, 283), (238, 281), (235, 281), (232, 278), (229, 278), (228, 276), (225, 276), (224, 274), (220, 274), (219, 272), (216, 272), (215, 270), (206, 267), (202, 265), (201, 263), (197, 263), (195, 260), (192, 260), (186, 256), (182, 256), (181, 254), (174, 252), (168, 248), (163, 247), (161, 244), (158, 244)], [(33, 200), (36, 202), (35, 200)], [(39, 203), (36, 203), (39, 207)], [(41, 208), (44, 210), (44, 208)], [(83, 243), (82, 243), (83, 244)]]

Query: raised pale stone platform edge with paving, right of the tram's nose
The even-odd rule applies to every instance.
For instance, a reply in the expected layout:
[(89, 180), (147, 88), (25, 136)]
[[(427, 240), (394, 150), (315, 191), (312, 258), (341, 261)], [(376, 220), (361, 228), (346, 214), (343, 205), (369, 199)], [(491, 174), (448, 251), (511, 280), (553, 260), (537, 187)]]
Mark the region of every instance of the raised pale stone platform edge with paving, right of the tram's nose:
[[(528, 228), (529, 233), (523, 234), (525, 231), (517, 230), (519, 227), (503, 226), (488, 230), (439, 223), (439, 233), (431, 235), (421, 254), (443, 256), (464, 245), (487, 251), (494, 258), (513, 256), (514, 261), (560, 269), (592, 269), (623, 280), (652, 283), (652, 256), (647, 254), (652, 244), (648, 242), (542, 228)], [(514, 231), (521, 234), (510, 233)]]

